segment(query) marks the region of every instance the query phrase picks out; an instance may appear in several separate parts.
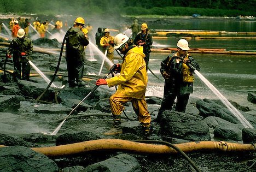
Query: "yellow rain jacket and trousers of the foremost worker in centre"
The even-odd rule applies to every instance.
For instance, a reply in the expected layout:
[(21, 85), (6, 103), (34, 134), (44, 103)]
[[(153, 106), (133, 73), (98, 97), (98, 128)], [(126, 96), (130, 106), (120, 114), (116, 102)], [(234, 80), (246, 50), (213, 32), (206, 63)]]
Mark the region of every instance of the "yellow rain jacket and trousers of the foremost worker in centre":
[(112, 114), (121, 115), (124, 104), (131, 102), (139, 122), (149, 127), (151, 118), (145, 100), (148, 75), (144, 57), (142, 47), (130, 49), (121, 64), (120, 75), (106, 81), (109, 87), (118, 86), (117, 92), (109, 99)]

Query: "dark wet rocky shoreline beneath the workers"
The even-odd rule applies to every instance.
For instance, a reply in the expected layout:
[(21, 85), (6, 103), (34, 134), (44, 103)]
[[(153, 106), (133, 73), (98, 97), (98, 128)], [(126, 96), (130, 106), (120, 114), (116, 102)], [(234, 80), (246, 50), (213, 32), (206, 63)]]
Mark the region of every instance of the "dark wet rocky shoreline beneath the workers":
[[(38, 43), (40, 44), (40, 43)], [(0, 49), (2, 60), (5, 48)], [(33, 63), (44, 73), (53, 73), (58, 55), (33, 54)], [(11, 62), (10, 62), (11, 63)], [(85, 69), (91, 72), (100, 68), (96, 62), (86, 61)], [(52, 68), (51, 68), (52, 67)], [(8, 64), (7, 69), (13, 67)], [(102, 73), (107, 73), (104, 70)], [(61, 62), (55, 84), (62, 86), (67, 82), (65, 60)], [(51, 77), (51, 75), (49, 75)], [(50, 135), (69, 112), (95, 86), (101, 76), (85, 80), (88, 85), (81, 88), (61, 90), (50, 88), (38, 102), (36, 99), (47, 86), (40, 77), (30, 81), (11, 82), (7, 73), (1, 73), (0, 82), (0, 148), (1, 171), (193, 171), (194, 169), (181, 155), (155, 155), (120, 152), (116, 150), (97, 150), (78, 155), (47, 157), (28, 147), (46, 147), (79, 143), (89, 140), (123, 139), (143, 140), (141, 127), (136, 120), (131, 104), (127, 104), (121, 116), (123, 134), (103, 135), (112, 127), (108, 98), (114, 90), (99, 87), (82, 103), (74, 114), (63, 124), (57, 135)], [(3, 78), (5, 79), (4, 82)], [(255, 93), (248, 100), (255, 101)], [(251, 101), (251, 102), (252, 102)], [(152, 120), (156, 117), (161, 98), (148, 97), (148, 109)], [(255, 103), (255, 102), (254, 102)], [(231, 102), (243, 116), (256, 127), (255, 109)], [(226, 141), (230, 143), (256, 143), (256, 130), (245, 128), (220, 100), (190, 98), (187, 112), (165, 111), (159, 123), (152, 122), (149, 140), (167, 141), (181, 144), (200, 141)], [(191, 152), (191, 160), (201, 171), (239, 171), (248, 168), (256, 157), (254, 152)], [(14, 158), (15, 157), (15, 158)], [(255, 161), (255, 160), (254, 160)], [(251, 170), (255, 170), (252, 167)]]

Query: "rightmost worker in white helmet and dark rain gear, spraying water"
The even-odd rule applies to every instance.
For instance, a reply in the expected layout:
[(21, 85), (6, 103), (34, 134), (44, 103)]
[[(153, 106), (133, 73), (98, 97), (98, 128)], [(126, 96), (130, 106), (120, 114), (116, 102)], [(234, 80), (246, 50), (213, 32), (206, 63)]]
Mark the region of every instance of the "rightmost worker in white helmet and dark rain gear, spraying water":
[[(177, 43), (177, 52), (169, 55), (161, 62), (160, 72), (165, 79), (164, 99), (158, 112), (156, 121), (159, 121), (162, 112), (172, 110), (174, 100), (177, 97), (176, 111), (185, 112), (189, 100), (189, 94), (193, 93), (194, 69), (200, 70), (199, 64), (189, 54), (188, 41), (180, 39)], [(181, 58), (183, 60), (181, 60)]]

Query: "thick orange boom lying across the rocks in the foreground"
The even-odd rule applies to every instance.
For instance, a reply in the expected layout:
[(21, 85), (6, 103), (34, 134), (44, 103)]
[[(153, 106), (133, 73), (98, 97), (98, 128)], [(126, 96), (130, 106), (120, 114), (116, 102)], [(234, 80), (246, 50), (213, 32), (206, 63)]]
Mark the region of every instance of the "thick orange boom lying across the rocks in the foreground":
[[(256, 152), (253, 144), (227, 143), (225, 141), (196, 141), (190, 143), (174, 144), (185, 153), (191, 152)], [(0, 147), (4, 147), (0, 145)], [(99, 139), (83, 141), (80, 143), (50, 146), (32, 147), (32, 150), (43, 153), (48, 157), (75, 155), (90, 151), (124, 151), (132, 153), (156, 153), (156, 154), (177, 154), (178, 152), (166, 145), (145, 144), (135, 141), (120, 139)]]

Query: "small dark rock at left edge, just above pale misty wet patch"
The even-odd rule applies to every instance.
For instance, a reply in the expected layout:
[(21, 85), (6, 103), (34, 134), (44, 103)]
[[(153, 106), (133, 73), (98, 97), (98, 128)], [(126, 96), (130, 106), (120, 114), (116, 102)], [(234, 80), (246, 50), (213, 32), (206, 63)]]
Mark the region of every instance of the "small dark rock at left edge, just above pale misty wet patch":
[(16, 112), (20, 108), (20, 100), (17, 96), (0, 95), (0, 112)]

